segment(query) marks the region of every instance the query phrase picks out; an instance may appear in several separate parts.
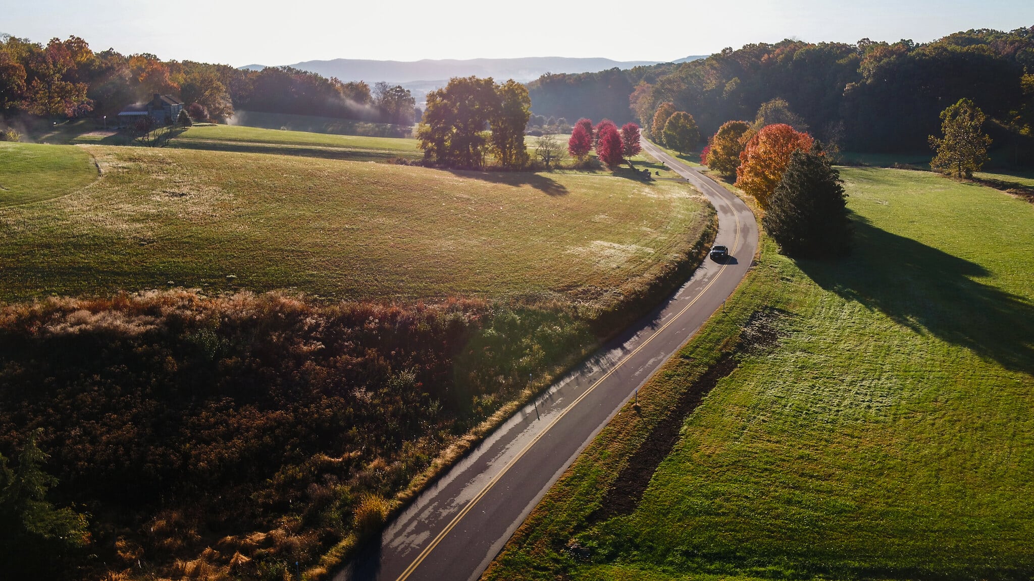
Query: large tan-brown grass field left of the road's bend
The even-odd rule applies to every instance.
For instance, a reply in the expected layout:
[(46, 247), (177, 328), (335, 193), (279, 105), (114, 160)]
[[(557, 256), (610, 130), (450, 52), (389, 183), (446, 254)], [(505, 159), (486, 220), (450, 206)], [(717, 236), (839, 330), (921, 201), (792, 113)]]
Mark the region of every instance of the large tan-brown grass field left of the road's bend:
[[(3, 151), (47, 160), (0, 165), (0, 184), (18, 200), (81, 188), (0, 210), (3, 300), (166, 284), (348, 299), (570, 290), (591, 300), (677, 259), (709, 219), (685, 185), (602, 175), (103, 146)], [(103, 173), (93, 183), (90, 155)], [(80, 181), (55, 176), (63, 189), (25, 177), (27, 164), (69, 162), (79, 173), (62, 172)]]

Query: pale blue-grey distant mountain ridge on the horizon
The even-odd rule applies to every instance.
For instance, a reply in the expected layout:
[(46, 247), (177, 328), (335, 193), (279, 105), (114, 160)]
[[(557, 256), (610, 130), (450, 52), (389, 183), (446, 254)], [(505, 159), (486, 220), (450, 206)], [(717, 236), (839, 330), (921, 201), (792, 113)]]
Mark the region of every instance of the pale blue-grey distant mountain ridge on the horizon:
[[(705, 58), (690, 56), (672, 62), (687, 62)], [(534, 81), (546, 72), (596, 72), (609, 68), (633, 68), (658, 64), (659, 61), (615, 61), (603, 58), (526, 57), (519, 59), (469, 59), (420, 61), (378, 61), (365, 59), (315, 60), (288, 66), (336, 77), (344, 82), (366, 81), (375, 83), (430, 83), (437, 85), (453, 77), (492, 77), (495, 80), (513, 79), (521, 83)], [(250, 64), (241, 68), (261, 70), (265, 65)]]

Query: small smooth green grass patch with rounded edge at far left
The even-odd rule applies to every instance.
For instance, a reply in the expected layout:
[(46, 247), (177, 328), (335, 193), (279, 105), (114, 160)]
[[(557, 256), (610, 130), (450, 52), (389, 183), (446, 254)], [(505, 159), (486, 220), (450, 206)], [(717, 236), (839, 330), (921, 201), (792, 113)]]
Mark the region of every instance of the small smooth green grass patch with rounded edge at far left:
[(96, 179), (93, 158), (80, 148), (0, 144), (0, 208), (58, 197)]

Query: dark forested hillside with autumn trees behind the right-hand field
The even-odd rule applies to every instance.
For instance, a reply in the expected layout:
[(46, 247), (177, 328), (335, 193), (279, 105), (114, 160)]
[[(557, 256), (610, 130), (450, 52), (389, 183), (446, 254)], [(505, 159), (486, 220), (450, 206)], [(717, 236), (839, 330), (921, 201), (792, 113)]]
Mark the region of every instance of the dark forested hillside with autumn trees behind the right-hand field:
[(754, 119), (763, 103), (780, 98), (802, 119), (798, 128), (871, 152), (925, 150), (940, 112), (970, 98), (992, 120), (989, 129), (1012, 154), (1009, 161), (1034, 161), (1034, 27), (971, 30), (924, 44), (749, 44), (678, 65), (547, 74), (529, 85), (529, 94), (538, 115), (633, 116), (643, 127), (661, 103), (671, 102), (703, 134), (729, 120)]

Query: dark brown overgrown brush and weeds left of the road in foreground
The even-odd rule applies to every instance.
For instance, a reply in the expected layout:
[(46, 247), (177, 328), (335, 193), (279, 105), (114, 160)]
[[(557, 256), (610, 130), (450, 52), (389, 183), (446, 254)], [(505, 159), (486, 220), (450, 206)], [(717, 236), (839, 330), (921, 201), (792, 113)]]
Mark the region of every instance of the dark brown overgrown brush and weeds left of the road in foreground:
[[(557, 304), (168, 292), (5, 306), (0, 561), (12, 578), (304, 571), (364, 498), (391, 498), (529, 373), (594, 340)], [(48, 538), (40, 507), (6, 494), (20, 489), (3, 457), (91, 515), (90, 537)]]

